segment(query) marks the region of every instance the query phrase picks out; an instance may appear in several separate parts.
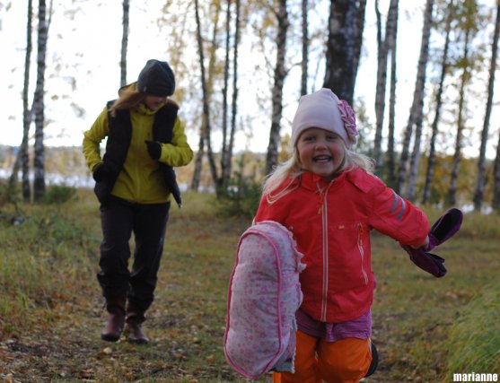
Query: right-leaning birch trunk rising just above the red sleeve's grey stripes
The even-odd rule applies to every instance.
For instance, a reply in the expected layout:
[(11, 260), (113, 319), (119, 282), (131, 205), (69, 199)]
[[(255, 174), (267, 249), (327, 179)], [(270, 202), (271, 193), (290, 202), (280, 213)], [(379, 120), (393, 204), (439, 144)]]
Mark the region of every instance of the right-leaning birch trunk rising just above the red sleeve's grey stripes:
[[(417, 81), (415, 91), (413, 92), (413, 102), (410, 108), (408, 125), (404, 132), (403, 143), (401, 148), (401, 158), (399, 160), (398, 169), (398, 184), (396, 191), (401, 193), (404, 182), (407, 178), (407, 167), (409, 158), (409, 145), (413, 135), (414, 127), (422, 125), (422, 109), (424, 108), (425, 96), (425, 71), (427, 67), (427, 57), (429, 49), (429, 40), (431, 36), (431, 25), (433, 19), (434, 0), (427, 0), (425, 3), (424, 24), (422, 27), (422, 42), (420, 45), (420, 55), (418, 57)], [(418, 130), (418, 128), (416, 129)], [(415, 149), (420, 147), (420, 137), (416, 135)], [(414, 160), (415, 161), (415, 160)], [(411, 188), (411, 186), (409, 186)]]

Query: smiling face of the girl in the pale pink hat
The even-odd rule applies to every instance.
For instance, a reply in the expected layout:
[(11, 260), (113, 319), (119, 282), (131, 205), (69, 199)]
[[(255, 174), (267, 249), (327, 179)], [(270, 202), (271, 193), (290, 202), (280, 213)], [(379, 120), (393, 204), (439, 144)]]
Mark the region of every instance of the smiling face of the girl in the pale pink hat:
[(302, 169), (331, 179), (344, 165), (346, 147), (340, 136), (319, 127), (309, 127), (297, 140)]

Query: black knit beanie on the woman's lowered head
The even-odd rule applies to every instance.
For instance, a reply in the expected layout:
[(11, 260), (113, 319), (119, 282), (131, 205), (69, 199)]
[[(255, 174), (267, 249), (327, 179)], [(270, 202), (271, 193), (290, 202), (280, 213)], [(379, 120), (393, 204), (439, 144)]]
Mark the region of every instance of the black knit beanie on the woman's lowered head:
[(175, 91), (175, 77), (166, 61), (148, 60), (137, 79), (137, 91), (168, 97)]

